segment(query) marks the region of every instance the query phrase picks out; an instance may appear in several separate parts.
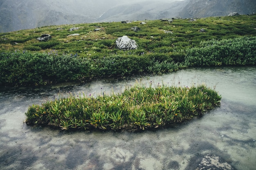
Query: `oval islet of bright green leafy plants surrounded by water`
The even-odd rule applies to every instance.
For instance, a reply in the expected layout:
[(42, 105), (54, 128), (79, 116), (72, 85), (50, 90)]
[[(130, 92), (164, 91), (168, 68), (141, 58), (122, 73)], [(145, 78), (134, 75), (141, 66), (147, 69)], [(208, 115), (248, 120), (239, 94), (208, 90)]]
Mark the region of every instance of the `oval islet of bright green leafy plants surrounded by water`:
[(221, 96), (205, 85), (175, 87), (142, 85), (121, 94), (74, 96), (32, 105), (25, 113), (27, 124), (67, 129), (144, 130), (168, 126), (199, 116), (220, 105)]

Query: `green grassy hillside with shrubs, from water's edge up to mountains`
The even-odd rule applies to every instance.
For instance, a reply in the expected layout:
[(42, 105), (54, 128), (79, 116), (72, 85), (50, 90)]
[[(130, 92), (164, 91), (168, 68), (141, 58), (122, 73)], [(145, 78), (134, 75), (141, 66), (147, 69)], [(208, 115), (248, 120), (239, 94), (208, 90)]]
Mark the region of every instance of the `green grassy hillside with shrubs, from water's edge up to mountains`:
[[(255, 65), (256, 15), (140, 22), (46, 26), (1, 33), (0, 85), (161, 74), (190, 66)], [(141, 31), (132, 31), (133, 26)], [(79, 29), (69, 31), (72, 27)], [(205, 32), (200, 32), (201, 28)], [(68, 36), (75, 33), (79, 36)], [(42, 34), (50, 34), (52, 39), (38, 41)], [(138, 49), (117, 49), (115, 40), (123, 35), (134, 39)]]

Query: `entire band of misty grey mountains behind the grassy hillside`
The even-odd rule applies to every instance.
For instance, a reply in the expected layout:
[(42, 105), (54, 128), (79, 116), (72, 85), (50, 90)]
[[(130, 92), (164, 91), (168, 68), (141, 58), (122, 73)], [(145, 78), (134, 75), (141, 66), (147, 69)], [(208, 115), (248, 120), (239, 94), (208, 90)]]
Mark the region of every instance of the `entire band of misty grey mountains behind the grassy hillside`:
[(8, 0), (0, 2), (0, 32), (41, 26), (224, 16), (256, 12), (255, 0)]

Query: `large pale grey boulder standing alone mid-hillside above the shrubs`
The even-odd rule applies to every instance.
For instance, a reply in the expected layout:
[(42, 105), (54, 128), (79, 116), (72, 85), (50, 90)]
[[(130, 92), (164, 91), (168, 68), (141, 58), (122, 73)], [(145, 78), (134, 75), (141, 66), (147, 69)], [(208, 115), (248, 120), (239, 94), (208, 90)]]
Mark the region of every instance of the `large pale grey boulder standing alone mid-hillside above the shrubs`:
[(116, 47), (120, 50), (134, 50), (137, 49), (138, 46), (135, 40), (124, 35), (123, 37), (117, 38)]

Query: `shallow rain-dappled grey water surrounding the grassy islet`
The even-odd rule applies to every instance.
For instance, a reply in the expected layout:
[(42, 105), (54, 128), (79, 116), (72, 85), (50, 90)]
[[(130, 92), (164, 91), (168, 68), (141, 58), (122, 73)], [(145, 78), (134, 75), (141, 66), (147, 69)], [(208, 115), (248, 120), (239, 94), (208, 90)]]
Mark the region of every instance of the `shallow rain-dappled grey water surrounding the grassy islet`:
[[(205, 83), (221, 106), (172, 128), (143, 132), (63, 132), (24, 123), (29, 105), (72, 92), (122, 92), (135, 83)], [(186, 69), (123, 81), (92, 81), (0, 92), (0, 169), (195, 170), (207, 155), (237, 170), (256, 167), (256, 67)]]

